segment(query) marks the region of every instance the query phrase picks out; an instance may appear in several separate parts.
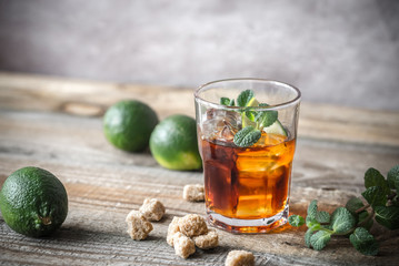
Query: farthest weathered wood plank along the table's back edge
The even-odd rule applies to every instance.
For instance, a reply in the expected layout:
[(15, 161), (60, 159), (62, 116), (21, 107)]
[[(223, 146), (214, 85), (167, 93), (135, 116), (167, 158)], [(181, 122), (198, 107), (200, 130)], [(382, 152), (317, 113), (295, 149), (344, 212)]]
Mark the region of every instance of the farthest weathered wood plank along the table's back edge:
[[(193, 89), (116, 84), (0, 72), (2, 109), (101, 116), (109, 105), (127, 98), (149, 103), (161, 119), (173, 113), (194, 115)], [(301, 137), (398, 147), (398, 135), (399, 112), (307, 102), (301, 104)]]

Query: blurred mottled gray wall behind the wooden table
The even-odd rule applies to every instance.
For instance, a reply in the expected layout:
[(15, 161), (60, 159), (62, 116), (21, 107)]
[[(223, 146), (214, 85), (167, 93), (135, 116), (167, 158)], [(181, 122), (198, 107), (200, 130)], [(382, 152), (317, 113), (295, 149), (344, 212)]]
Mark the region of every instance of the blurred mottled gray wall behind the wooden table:
[(0, 70), (196, 88), (257, 76), (399, 110), (397, 0), (0, 0)]

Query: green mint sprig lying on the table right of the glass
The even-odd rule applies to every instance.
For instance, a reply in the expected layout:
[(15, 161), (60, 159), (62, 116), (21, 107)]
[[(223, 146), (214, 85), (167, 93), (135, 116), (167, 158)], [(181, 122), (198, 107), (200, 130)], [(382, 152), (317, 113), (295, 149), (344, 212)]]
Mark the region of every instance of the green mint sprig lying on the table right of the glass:
[(308, 206), (306, 219), (300, 215), (291, 215), (288, 222), (292, 226), (306, 225), (305, 244), (316, 250), (321, 250), (335, 235), (349, 235), (353, 247), (365, 255), (378, 254), (378, 243), (369, 233), (373, 221), (388, 229), (399, 228), (399, 205), (397, 183), (399, 183), (399, 165), (392, 167), (385, 178), (375, 168), (365, 174), (366, 191), (363, 201), (359, 197), (350, 198), (345, 207), (338, 207), (331, 215), (318, 211), (317, 201)]

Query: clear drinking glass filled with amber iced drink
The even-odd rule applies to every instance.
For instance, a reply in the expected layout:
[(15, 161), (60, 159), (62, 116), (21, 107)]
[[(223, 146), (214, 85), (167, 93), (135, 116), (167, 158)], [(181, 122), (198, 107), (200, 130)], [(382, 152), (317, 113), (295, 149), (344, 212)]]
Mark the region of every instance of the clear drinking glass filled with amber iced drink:
[[(238, 99), (243, 91), (253, 96)], [(300, 98), (297, 88), (262, 79), (213, 81), (194, 92), (210, 224), (267, 233), (287, 223)], [(277, 114), (270, 125), (257, 120), (266, 113)], [(259, 130), (259, 140), (236, 144), (236, 134), (248, 126)]]

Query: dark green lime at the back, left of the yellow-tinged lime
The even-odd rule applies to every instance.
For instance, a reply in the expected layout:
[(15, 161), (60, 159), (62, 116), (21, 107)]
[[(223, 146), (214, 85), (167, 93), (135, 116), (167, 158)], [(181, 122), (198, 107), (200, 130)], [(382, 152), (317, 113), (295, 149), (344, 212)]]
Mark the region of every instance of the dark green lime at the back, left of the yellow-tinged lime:
[(157, 124), (156, 112), (146, 103), (136, 100), (113, 104), (103, 117), (107, 140), (116, 147), (128, 152), (143, 151)]

